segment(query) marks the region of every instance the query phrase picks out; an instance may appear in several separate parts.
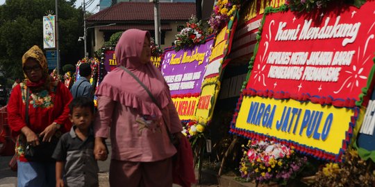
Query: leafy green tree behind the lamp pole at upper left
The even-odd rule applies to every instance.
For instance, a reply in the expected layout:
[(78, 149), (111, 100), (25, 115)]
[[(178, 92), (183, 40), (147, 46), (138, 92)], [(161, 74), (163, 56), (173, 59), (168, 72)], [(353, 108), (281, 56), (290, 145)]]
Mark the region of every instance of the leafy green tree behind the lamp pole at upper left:
[[(76, 64), (82, 45), (83, 11), (74, 2), (58, 1), (60, 65)], [(0, 71), (7, 78), (22, 77), (22, 55), (33, 45), (43, 47), (42, 17), (55, 14), (55, 1), (6, 0), (0, 6)]]

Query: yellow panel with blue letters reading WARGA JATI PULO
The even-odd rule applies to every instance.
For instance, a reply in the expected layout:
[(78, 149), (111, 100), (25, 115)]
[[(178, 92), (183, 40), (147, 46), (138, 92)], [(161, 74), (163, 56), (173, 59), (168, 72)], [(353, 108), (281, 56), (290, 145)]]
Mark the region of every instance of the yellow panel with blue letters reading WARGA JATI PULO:
[(342, 141), (337, 140), (346, 139), (354, 113), (332, 105), (245, 96), (235, 126), (337, 155), (342, 148)]

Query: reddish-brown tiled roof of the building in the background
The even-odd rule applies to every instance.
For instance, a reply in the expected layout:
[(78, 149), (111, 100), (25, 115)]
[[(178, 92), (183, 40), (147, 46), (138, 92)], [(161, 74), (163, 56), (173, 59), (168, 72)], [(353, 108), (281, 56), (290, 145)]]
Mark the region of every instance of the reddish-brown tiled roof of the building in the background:
[[(195, 15), (195, 3), (159, 3), (160, 21), (187, 21)], [(88, 21), (153, 21), (153, 3), (120, 2), (88, 17)]]

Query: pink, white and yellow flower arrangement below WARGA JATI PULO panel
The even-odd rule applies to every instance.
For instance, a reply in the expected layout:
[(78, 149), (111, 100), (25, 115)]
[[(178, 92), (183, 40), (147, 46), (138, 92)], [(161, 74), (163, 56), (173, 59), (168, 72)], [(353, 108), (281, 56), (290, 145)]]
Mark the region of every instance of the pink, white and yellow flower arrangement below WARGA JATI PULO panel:
[(306, 157), (298, 157), (293, 148), (274, 141), (249, 141), (242, 145), (241, 177), (257, 184), (276, 182), (285, 185), (303, 169)]

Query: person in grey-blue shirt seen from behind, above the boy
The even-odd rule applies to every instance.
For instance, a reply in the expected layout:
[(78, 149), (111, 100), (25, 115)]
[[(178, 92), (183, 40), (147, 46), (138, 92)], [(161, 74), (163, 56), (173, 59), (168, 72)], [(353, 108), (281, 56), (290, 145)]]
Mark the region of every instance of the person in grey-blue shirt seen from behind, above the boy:
[(82, 63), (79, 65), (79, 75), (81, 77), (74, 82), (72, 89), (70, 89), (73, 98), (83, 96), (94, 99), (94, 93), (92, 91), (93, 88), (90, 84), (91, 66), (89, 63)]

